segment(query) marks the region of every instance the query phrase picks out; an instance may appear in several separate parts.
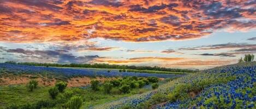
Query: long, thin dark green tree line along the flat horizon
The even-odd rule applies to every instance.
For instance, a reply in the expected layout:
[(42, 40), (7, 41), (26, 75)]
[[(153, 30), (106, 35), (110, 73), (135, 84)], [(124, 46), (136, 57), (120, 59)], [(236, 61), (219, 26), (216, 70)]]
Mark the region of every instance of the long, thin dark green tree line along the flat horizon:
[(150, 67), (150, 66), (128, 66), (128, 65), (109, 65), (106, 63), (70, 63), (70, 64), (59, 64), (59, 63), (36, 63), (36, 62), (21, 62), (17, 63), (14, 61), (8, 61), (5, 63), (12, 63), (18, 65), (28, 65), (28, 66), (45, 66), (45, 67), (81, 67), (81, 68), (108, 68), (108, 69), (136, 69), (136, 70), (159, 70), (167, 72), (186, 72), (194, 73), (198, 70), (191, 69), (177, 69), (177, 68), (165, 68), (165, 67)]

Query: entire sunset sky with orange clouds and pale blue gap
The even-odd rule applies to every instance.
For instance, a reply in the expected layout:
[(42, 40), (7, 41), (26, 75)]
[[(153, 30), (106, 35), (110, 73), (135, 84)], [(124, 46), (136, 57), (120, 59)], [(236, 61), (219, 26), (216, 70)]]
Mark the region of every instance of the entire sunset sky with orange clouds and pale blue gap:
[(255, 11), (255, 0), (0, 0), (0, 62), (230, 65), (256, 53)]

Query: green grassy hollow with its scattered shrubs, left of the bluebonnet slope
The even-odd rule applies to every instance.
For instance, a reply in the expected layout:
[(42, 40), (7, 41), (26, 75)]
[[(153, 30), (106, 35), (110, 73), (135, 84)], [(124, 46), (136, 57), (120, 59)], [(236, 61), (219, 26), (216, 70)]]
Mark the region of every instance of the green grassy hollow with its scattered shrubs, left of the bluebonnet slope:
[[(55, 86), (38, 86), (36, 80), (27, 85), (0, 86), (0, 108), (89, 108), (112, 100), (145, 93), (151, 86), (157, 88), (159, 79), (155, 77), (125, 77), (105, 81), (93, 80), (91, 86), (67, 87), (67, 83), (59, 81)], [(15, 102), (13, 102), (15, 101)], [(78, 106), (78, 107), (77, 107)]]

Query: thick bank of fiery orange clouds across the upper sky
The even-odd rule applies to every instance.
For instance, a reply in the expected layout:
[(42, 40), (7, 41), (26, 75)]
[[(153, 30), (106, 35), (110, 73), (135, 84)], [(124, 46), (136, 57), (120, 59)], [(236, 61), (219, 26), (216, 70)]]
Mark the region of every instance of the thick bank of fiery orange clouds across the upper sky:
[(187, 40), (218, 29), (256, 27), (246, 1), (0, 2), (0, 41), (58, 42), (96, 37), (131, 42)]

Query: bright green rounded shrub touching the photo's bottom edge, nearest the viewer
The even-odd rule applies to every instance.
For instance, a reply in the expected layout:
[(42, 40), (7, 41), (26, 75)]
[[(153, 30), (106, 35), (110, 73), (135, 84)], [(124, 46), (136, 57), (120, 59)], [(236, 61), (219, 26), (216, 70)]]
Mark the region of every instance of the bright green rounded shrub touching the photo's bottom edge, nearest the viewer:
[(81, 97), (77, 97), (77, 96), (75, 96), (75, 97), (72, 97), (69, 101), (68, 101), (68, 103), (67, 103), (67, 107), (69, 108), (69, 109), (79, 109), (79, 108), (81, 108), (81, 106), (82, 106), (82, 99), (81, 99)]

